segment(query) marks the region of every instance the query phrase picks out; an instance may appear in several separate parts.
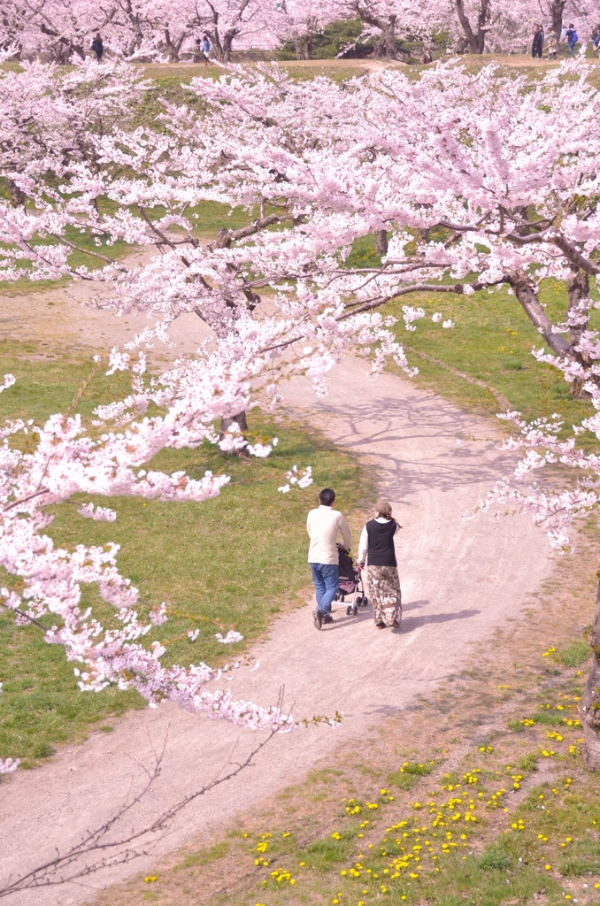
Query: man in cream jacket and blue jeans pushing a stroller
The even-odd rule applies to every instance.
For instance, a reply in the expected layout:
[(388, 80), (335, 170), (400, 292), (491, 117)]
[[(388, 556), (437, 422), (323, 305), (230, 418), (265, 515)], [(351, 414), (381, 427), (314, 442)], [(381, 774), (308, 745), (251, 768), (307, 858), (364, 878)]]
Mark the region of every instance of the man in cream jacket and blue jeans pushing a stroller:
[(334, 510), (335, 491), (324, 487), (319, 494), (319, 506), (311, 510), (306, 519), (306, 531), (310, 538), (308, 563), (315, 583), (316, 610), (313, 612), (315, 627), (333, 622), (331, 604), (338, 589), (337, 564), (339, 554), (336, 542), (342, 535), (344, 547), (350, 549), (350, 526), (344, 516)]

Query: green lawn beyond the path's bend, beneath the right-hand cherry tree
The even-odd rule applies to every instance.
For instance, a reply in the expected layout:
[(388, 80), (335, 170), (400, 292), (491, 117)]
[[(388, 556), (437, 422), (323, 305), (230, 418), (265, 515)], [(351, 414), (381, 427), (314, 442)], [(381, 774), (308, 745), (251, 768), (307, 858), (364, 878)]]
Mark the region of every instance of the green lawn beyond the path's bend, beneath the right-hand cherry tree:
[[(348, 263), (364, 267), (380, 260), (373, 236), (365, 236), (354, 244)], [(550, 319), (564, 320), (564, 285), (547, 281), (540, 299), (547, 305)], [(421, 306), (427, 313), (426, 318), (415, 322), (413, 333), (404, 330), (402, 305)], [(402, 296), (385, 310), (399, 319), (396, 336), (411, 365), (419, 369), (417, 383), (459, 406), (493, 415), (506, 409), (504, 398), (511, 409), (527, 418), (557, 412), (568, 424), (589, 414), (585, 401), (571, 396), (562, 374), (531, 355), (532, 348), (544, 345), (543, 338), (517, 298), (505, 289), (470, 296), (417, 293)], [(444, 330), (440, 323), (432, 323), (434, 312), (442, 313), (444, 320), (450, 318), (456, 326)], [(592, 312), (590, 323), (596, 330), (600, 328), (597, 312)]]

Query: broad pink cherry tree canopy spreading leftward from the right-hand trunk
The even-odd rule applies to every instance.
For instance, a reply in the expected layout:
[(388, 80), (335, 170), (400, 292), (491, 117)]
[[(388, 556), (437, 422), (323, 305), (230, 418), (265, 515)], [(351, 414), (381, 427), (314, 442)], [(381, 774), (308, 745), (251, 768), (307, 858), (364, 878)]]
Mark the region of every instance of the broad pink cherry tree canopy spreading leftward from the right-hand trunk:
[[(261, 287), (279, 289), (286, 304), (285, 281), (305, 300), (352, 294), (348, 313), (423, 285), (460, 293), (505, 285), (552, 352), (585, 366), (579, 329), (565, 338), (539, 296), (545, 279), (564, 281), (568, 310), (585, 318), (581, 303), (598, 273), (595, 88), (576, 66), (534, 85), (500, 79), (493, 67), (476, 75), (442, 67), (418, 82), (382, 72), (343, 86), (233, 70), (218, 82), (195, 80), (190, 92), (193, 105), (165, 105), (160, 131), (99, 137), (94, 167), (73, 161), (69, 195), (45, 181), (30, 212), (6, 207), (5, 241), (25, 222), (29, 239), (4, 251), (5, 275), (22, 275), (28, 259), (34, 276), (110, 278), (121, 309), (166, 322), (196, 311), (221, 334), (255, 311)], [(98, 198), (118, 213), (100, 215)], [(204, 243), (203, 201), (254, 217)], [(162, 254), (143, 267), (73, 272), (65, 226)], [(382, 229), (389, 252), (365, 282), (344, 268), (344, 249)], [(50, 250), (31, 241), (42, 232), (56, 242)], [(225, 306), (200, 311), (216, 275)], [(581, 380), (576, 368), (573, 376)]]

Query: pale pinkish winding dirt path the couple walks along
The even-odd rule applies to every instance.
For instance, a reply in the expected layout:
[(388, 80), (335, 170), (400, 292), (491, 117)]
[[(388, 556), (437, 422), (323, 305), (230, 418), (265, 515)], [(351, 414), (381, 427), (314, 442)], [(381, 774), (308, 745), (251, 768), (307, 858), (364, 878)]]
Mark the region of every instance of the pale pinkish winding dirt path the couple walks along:
[[(3, 320), (15, 316), (19, 333), (38, 336), (47, 301), (44, 294), (26, 309), (21, 304), (11, 311), (5, 304)], [(65, 340), (79, 337), (83, 345), (93, 345), (110, 337), (118, 342), (121, 326), (110, 315), (82, 313), (73, 303), (55, 301), (52, 333), (60, 323)], [(192, 324), (178, 327), (183, 346), (193, 344)], [(354, 618), (338, 607), (334, 623), (317, 632), (309, 603), (278, 619), (266, 641), (255, 646), (251, 664), (224, 675), (221, 685), (265, 705), (276, 700), (284, 685), (297, 718), (339, 710), (343, 724), (277, 737), (255, 767), (180, 814), (156, 853), (168, 853), (236, 814), (258, 808), (316, 761), (343, 757), (344, 745), (360, 740), (374, 723), (411, 708), (450, 673), (472, 667), (469, 643), (490, 638), (494, 627), (517, 617), (551, 568), (545, 538), (526, 519), (461, 519), (508, 463), (489, 439), (487, 423), (410, 381), (392, 375), (367, 381), (360, 361), (344, 361), (333, 384), (329, 396), (319, 400), (304, 381), (294, 381), (284, 387), (285, 404), (335, 443), (363, 456), (391, 499), (404, 526), (397, 542), (405, 602), (402, 629), (378, 631), (370, 611)], [(309, 493), (307, 508), (312, 502)], [(344, 500), (339, 504), (344, 509)], [(298, 556), (304, 559), (305, 552)], [(143, 766), (151, 765), (153, 750), (165, 739), (160, 778), (128, 825), (148, 822), (215, 776), (232, 753), (240, 761), (256, 744), (256, 735), (166, 706), (136, 712), (110, 735), (96, 734), (39, 770), (17, 773), (0, 787), (0, 878), (40, 863), (55, 847), (74, 843), (108, 817), (131, 788), (139, 788)], [(95, 875), (85, 885), (38, 890), (8, 902), (82, 903), (92, 899), (94, 889), (155, 863), (144, 857)]]

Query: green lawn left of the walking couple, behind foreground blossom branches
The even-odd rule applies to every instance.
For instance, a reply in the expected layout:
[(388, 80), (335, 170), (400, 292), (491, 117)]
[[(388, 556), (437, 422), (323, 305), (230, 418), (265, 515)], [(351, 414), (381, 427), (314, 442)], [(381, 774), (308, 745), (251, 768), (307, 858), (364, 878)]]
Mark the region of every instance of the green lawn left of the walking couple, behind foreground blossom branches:
[[(39, 421), (69, 406), (91, 365), (68, 352), (54, 354), (57, 357), (49, 361), (38, 356), (33, 343), (0, 345), (3, 373), (12, 371), (17, 377), (15, 386), (2, 394), (3, 417)], [(110, 399), (111, 389), (115, 389), (111, 381), (93, 381), (79, 410), (90, 412)], [(309, 584), (305, 514), (314, 506), (315, 491), (278, 494), (276, 487), (287, 468), (312, 465), (315, 487), (333, 485), (340, 506), (349, 514), (369, 492), (353, 459), (303, 426), (287, 419), (275, 423), (259, 413), (251, 415), (250, 424), (261, 436), (279, 438), (272, 457), (237, 461), (207, 446), (166, 451), (155, 460), (156, 467), (185, 468), (192, 477), (207, 469), (227, 472), (232, 484), (215, 500), (170, 504), (109, 499), (106, 505), (118, 512), (116, 523), (83, 519), (66, 504), (55, 508), (52, 535), (57, 542), (117, 542), (121, 572), (140, 587), (142, 600), (169, 603), (173, 619), (151, 639), (169, 641), (172, 661), (218, 664), (235, 657), (266, 631), (276, 612), (303, 602)], [(85, 602), (98, 607), (92, 590), (86, 592)], [(108, 614), (108, 608), (103, 612)], [(195, 625), (200, 635), (192, 644), (185, 633)], [(215, 639), (221, 626), (235, 627), (245, 641), (224, 649)], [(4, 681), (0, 757), (32, 761), (49, 756), (57, 743), (82, 737), (98, 722), (109, 730), (112, 718), (141, 705), (131, 693), (82, 695), (63, 652), (46, 645), (40, 635), (35, 627), (16, 627), (0, 614), (0, 681)]]

